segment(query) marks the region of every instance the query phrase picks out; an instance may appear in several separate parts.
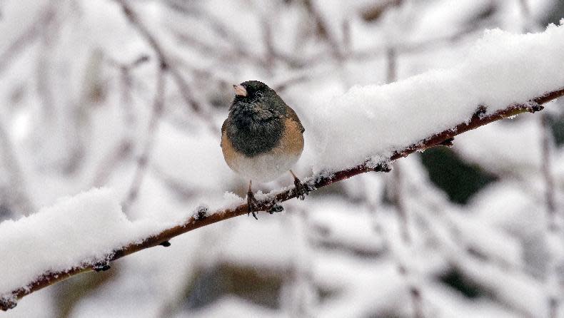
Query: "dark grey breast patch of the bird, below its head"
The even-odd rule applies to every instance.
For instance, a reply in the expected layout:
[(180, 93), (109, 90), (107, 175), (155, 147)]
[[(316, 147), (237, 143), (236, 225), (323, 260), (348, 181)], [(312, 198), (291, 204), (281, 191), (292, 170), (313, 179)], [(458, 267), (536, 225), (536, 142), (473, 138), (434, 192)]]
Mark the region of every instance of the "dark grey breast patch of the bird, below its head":
[(280, 145), (284, 130), (282, 116), (259, 118), (255, 115), (233, 116), (227, 136), (233, 148), (247, 157), (254, 157)]

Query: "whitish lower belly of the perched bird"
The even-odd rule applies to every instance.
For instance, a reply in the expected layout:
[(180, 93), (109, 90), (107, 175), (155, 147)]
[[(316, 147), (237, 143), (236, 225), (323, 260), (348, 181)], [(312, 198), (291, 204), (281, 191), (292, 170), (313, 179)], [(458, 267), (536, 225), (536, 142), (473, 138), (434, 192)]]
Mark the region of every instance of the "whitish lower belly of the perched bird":
[(254, 157), (238, 155), (231, 162), (231, 168), (250, 180), (268, 182), (287, 173), (296, 164), (300, 155), (301, 153), (263, 153)]

